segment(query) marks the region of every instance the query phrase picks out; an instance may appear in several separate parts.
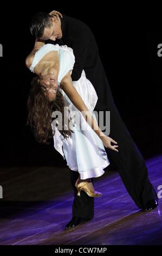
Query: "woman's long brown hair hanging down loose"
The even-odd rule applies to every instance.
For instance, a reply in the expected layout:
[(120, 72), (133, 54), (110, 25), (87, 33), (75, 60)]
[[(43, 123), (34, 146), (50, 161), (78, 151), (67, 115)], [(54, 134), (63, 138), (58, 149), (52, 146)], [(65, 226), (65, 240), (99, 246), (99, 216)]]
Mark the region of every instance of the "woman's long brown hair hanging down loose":
[[(49, 102), (44, 96), (41, 86), (38, 82), (39, 77), (34, 77), (31, 81), (31, 89), (27, 100), (28, 119), (27, 125), (31, 126), (34, 137), (37, 142), (49, 144), (49, 139), (53, 137), (51, 129), (51, 114), (54, 111), (62, 113), (62, 130), (59, 130), (64, 138), (71, 135), (72, 130), (64, 130), (64, 99), (63, 95), (57, 89), (55, 101)], [(69, 127), (69, 119), (68, 127)]]

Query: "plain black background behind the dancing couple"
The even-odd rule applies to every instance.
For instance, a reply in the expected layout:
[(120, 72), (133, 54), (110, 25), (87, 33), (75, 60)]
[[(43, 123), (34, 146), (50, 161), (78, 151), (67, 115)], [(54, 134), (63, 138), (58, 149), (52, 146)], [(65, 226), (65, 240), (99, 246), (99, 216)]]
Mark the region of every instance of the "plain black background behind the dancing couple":
[[(90, 3), (90, 2), (89, 2)], [(148, 5), (147, 5), (148, 7)], [(34, 46), (29, 32), (31, 16), (38, 11), (59, 10), (85, 22), (99, 46), (114, 101), (144, 157), (161, 153), (160, 7), (114, 7), (85, 2), (14, 2), (1, 9), (1, 167), (66, 165), (50, 145), (38, 144), (27, 120), (26, 102), (34, 74), (25, 57)]]

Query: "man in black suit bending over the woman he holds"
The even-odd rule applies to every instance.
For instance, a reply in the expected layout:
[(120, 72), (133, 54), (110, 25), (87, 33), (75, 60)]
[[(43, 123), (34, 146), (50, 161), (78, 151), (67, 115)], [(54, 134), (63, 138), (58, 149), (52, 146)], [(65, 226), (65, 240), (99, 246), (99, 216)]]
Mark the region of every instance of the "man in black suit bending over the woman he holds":
[[(148, 211), (157, 207), (157, 194), (148, 179), (145, 161), (114, 104), (92, 31), (82, 21), (52, 11), (50, 14), (36, 14), (30, 23), (30, 32), (40, 40), (50, 39), (54, 44), (67, 45), (73, 49), (75, 64), (72, 80), (79, 80), (82, 70), (85, 70), (86, 77), (92, 82), (98, 95), (95, 110), (110, 111), (111, 114), (109, 136), (118, 142), (119, 152), (106, 149), (107, 154), (111, 155), (129, 195), (138, 208)], [(88, 197), (84, 192), (78, 197), (75, 187), (78, 173), (70, 170), (70, 178), (74, 189), (73, 217), (66, 229), (94, 216), (94, 198)]]

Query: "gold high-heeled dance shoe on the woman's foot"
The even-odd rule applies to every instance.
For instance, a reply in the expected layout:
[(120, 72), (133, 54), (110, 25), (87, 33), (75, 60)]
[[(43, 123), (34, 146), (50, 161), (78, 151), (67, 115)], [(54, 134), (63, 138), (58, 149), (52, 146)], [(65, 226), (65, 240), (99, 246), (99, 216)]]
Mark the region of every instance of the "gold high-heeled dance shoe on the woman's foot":
[(78, 183), (79, 179), (76, 180), (75, 182), (75, 187), (77, 188), (77, 196), (80, 197), (80, 191), (83, 190), (85, 191), (89, 197), (101, 197), (102, 193), (95, 191), (93, 183), (92, 182), (87, 182), (87, 181), (82, 181)]

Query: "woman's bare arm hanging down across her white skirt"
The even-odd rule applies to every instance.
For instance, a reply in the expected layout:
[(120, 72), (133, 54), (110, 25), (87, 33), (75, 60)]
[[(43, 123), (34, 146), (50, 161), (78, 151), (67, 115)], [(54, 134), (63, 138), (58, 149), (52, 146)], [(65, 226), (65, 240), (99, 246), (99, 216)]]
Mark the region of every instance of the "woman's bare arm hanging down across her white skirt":
[(82, 113), (83, 117), (86, 119), (87, 123), (92, 127), (94, 132), (99, 136), (103, 144), (106, 148), (111, 148), (115, 151), (118, 151), (116, 147), (117, 145), (111, 145), (111, 142), (115, 142), (112, 138), (105, 136), (104, 133), (101, 131), (100, 127), (98, 126), (98, 123), (94, 120), (92, 115), (90, 114), (88, 108), (86, 107), (85, 103), (83, 102), (81, 96), (79, 93), (77, 93), (77, 90), (73, 86), (72, 78), (70, 76), (70, 72), (63, 77), (60, 87), (63, 89), (63, 91), (67, 94), (70, 101), (74, 104), (74, 106)]

